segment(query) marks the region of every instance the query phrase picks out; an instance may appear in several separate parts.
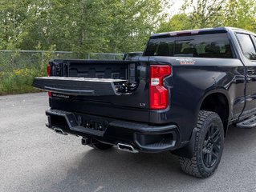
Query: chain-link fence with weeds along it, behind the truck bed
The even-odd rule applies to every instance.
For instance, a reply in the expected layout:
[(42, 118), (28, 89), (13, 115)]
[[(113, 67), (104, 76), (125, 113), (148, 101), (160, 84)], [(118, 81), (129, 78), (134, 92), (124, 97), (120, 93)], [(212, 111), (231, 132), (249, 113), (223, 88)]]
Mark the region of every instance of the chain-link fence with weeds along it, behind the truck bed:
[(47, 75), (51, 59), (122, 60), (124, 54), (0, 50), (0, 95), (34, 91), (33, 78)]

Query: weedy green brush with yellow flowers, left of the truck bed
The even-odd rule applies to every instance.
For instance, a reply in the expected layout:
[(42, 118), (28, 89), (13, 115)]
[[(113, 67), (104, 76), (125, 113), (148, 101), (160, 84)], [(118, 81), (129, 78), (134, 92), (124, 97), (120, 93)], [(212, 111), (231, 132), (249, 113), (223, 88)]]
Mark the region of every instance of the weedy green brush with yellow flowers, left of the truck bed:
[(0, 52), (0, 95), (38, 92), (33, 78), (46, 75), (42, 53)]

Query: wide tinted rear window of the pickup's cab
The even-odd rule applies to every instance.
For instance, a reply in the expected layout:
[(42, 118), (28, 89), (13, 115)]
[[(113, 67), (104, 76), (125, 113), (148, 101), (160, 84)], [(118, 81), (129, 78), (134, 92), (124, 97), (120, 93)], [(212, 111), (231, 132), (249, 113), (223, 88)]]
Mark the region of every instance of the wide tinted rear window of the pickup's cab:
[(226, 34), (150, 39), (144, 56), (233, 58)]

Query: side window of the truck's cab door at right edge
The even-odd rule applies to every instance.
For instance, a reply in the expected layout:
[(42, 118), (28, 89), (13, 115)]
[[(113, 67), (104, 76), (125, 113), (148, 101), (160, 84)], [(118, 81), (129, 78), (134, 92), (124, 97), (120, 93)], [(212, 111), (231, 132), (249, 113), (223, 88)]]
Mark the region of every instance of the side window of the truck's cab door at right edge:
[(250, 60), (256, 60), (256, 51), (254, 44), (248, 34), (237, 34), (238, 42), (241, 45), (242, 52)]

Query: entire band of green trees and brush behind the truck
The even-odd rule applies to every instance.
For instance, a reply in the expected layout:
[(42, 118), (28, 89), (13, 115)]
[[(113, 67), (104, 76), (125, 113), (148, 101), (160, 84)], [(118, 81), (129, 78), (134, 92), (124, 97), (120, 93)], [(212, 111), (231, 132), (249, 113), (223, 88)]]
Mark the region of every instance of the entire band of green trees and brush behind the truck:
[[(255, 0), (188, 0), (167, 18), (169, 0), (1, 0), (0, 50), (125, 53), (144, 50), (155, 32), (234, 26), (256, 32)], [(52, 55), (45, 52), (44, 61)], [(71, 56), (70, 56), (71, 57)], [(97, 57), (95, 54), (94, 58)], [(23, 58), (15, 60), (14, 58)], [(26, 58), (26, 59), (25, 59)], [(31, 91), (38, 54), (0, 53), (0, 94)], [(11, 63), (11, 64), (10, 64)]]

